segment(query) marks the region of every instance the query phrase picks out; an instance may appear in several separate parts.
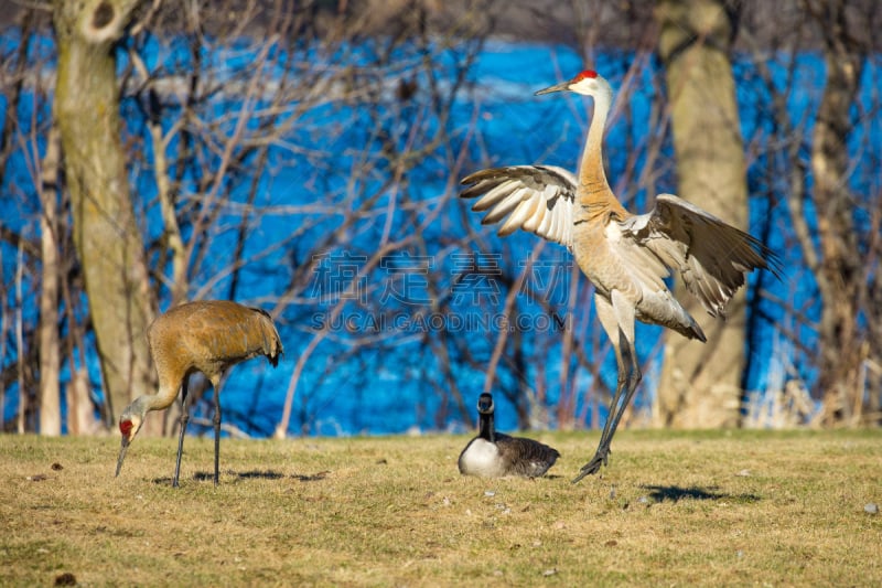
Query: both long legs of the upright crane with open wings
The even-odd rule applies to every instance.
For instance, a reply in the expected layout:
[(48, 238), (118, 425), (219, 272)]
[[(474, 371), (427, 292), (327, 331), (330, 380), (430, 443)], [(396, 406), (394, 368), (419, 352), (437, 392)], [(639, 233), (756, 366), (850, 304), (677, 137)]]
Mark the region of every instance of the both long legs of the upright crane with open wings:
[(637, 385), (642, 378), (637, 353), (634, 348), (634, 307), (616, 290), (612, 292), (612, 302), (594, 295), (594, 304), (598, 309), (598, 318), (610, 336), (615, 350), (615, 363), (619, 368), (619, 378), (615, 386), (615, 394), (610, 403), (610, 410), (606, 415), (606, 423), (600, 436), (598, 450), (591, 461), (582, 466), (582, 469), (573, 479), (573, 483), (580, 481), (585, 475), (596, 473), (601, 466), (606, 466), (610, 457), (610, 443), (619, 427), (619, 421), (625, 413)]

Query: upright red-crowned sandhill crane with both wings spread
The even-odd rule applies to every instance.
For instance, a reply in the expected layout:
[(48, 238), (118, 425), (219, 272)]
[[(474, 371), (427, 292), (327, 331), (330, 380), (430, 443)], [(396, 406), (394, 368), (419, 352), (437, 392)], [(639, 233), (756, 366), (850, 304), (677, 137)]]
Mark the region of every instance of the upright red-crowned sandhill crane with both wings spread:
[(713, 317), (722, 317), (732, 295), (756, 268), (778, 276), (775, 255), (751, 235), (673, 194), (656, 197), (646, 214), (627, 212), (613, 194), (603, 170), (602, 138), (613, 90), (596, 72), (536, 93), (569, 90), (594, 99), (578, 178), (551, 165), (515, 165), (464, 178), (461, 194), (484, 212), (482, 223), (507, 216), (501, 236), (517, 228), (559, 243), (574, 255), (594, 285), (598, 318), (615, 350), (619, 382), (594, 457), (578, 482), (606, 466), (619, 420), (641, 381), (634, 349), (634, 321), (660, 324), (704, 342), (704, 333), (663, 281), (677, 270), (687, 289)]

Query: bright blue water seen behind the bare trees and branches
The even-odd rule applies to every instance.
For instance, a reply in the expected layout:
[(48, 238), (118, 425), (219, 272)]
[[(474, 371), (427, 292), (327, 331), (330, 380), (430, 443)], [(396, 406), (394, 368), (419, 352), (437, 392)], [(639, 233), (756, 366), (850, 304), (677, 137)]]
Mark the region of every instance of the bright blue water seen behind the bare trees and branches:
[[(3, 40), (6, 49), (18, 42), (14, 38)], [(341, 50), (342, 53), (310, 53), (302, 57), (326, 65), (344, 58), (370, 63), (375, 50), (366, 43), (359, 47), (345, 47)], [(406, 49), (401, 51), (399, 58), (412, 57)], [(46, 67), (52, 67), (50, 41), (40, 40), (33, 53), (34, 56), (49, 55)], [(162, 63), (185, 68), (189, 58), (185, 47), (176, 46), (174, 42), (169, 46), (148, 43), (146, 60), (151, 68)], [(254, 63), (254, 55), (245, 45), (207, 53), (204, 58), (224, 64), (230, 83)], [(622, 52), (601, 53), (594, 66), (617, 86), (635, 58)], [(438, 63), (435, 77), (442, 82), (450, 79), (453, 57), (447, 58), (442, 52)], [(776, 75), (784, 76), (786, 65), (773, 63), (773, 68), (777, 67)], [(752, 84), (740, 85), (738, 94), (742, 132), (747, 138), (763, 132), (764, 127), (770, 125), (764, 107), (767, 96), (762, 85), (751, 77), (751, 67), (747, 61), (735, 66), (740, 79), (753, 79)], [(243, 161), (245, 169), (238, 170), (238, 175), (230, 180), (232, 188), (225, 194), (228, 201), (220, 209), (218, 222), (208, 235), (201, 236), (200, 243), (208, 249), (200, 258), (198, 266), (192, 269), (191, 298), (235, 298), (270, 309), (300, 268), (313, 261), (318, 254), (321, 255), (316, 258), (315, 270), (306, 276), (309, 284), (297, 291), (294, 302), (277, 320), (286, 348), (283, 361), (276, 370), (258, 360), (233, 368), (223, 392), (225, 419), (251, 435), (270, 435), (281, 414), (294, 364), (313, 336), (312, 333), (331, 323), (332, 309), (341, 297), (348, 297), (341, 318), (333, 323), (334, 332), (319, 345), (298, 383), (289, 432), (351, 435), (400, 434), (412, 428), (471, 429), (471, 415), (483, 387), (484, 368), (496, 343), (496, 333), (504, 327), (501, 317), (505, 290), (499, 289), (499, 280), (503, 277), (516, 277), (523, 269), (523, 265), (503, 267), (501, 259), (525, 263), (537, 239), (526, 234), (499, 239), (492, 232), (481, 229), (477, 215), (464, 215), (461, 202), (439, 201), (439, 195), (445, 193), (451, 181), (455, 182), (459, 178), (451, 178), (450, 153), (444, 152), (443, 148), (432, 148), (431, 141), (437, 132), (444, 130), (452, 138), (450, 145), (454, 154), (466, 153), (466, 167), (459, 171), (459, 177), (474, 169), (496, 164), (541, 162), (573, 169), (590, 120), (589, 105), (576, 96), (535, 97), (533, 94), (580, 68), (580, 57), (564, 47), (494, 41), (484, 47), (469, 72), (469, 84), (453, 103), (451, 120), (442, 121), (427, 114), (419, 103), (401, 106), (391, 94), (380, 99), (374, 109), (358, 103), (329, 101), (291, 114), (291, 117), (298, 118), (286, 135), (284, 145), (270, 149), (262, 168), (250, 169), (259, 162), (255, 157), (246, 158)], [(822, 61), (817, 56), (800, 56), (796, 65), (800, 93), (790, 96), (789, 104), (794, 121), (804, 117), (810, 119), (824, 81), (822, 70)], [(270, 70), (263, 75), (281, 76), (282, 73)], [(391, 87), (397, 77), (387, 75)], [(642, 75), (634, 79), (632, 94), (617, 110), (615, 127), (607, 135), (611, 183), (634, 210), (645, 207), (647, 194), (643, 189), (631, 189), (626, 165), (628, 157), (634, 159), (638, 170), (645, 161), (642, 141), (656, 131), (648, 125), (654, 100), (657, 99), (659, 76), (652, 61), (647, 62)], [(421, 87), (428, 83), (424, 73), (418, 81)], [(23, 111), (18, 113), (23, 133), (30, 132), (31, 120), (42, 124), (47, 119), (47, 103), (36, 100), (36, 109), (25, 106)], [(6, 98), (0, 97), (0, 108), (6, 107)], [(235, 117), (228, 115), (238, 107), (240, 103), (235, 95), (220, 93), (212, 103), (213, 111), (207, 114), (212, 115), (211, 119), (229, 118), (224, 128), (226, 132), (232, 132)], [(123, 100), (122, 111), (129, 136), (143, 133), (141, 115), (131, 98)], [(419, 121), (416, 128), (415, 120)], [(475, 128), (466, 132), (471, 120), (476, 121)], [(287, 118), (282, 117), (277, 124), (286, 121)], [(169, 121), (165, 124), (168, 128)], [(878, 149), (881, 135), (879, 127), (878, 120), (871, 121), (861, 128), (856, 141), (869, 141)], [(810, 126), (806, 131), (810, 131)], [(392, 141), (396, 148), (402, 149), (408, 140), (417, 147), (426, 146), (427, 152), (419, 162), (407, 169), (407, 183), (390, 189), (387, 180), (394, 170), (380, 157), (384, 141)], [(150, 141), (143, 141), (142, 145), (149, 164), (152, 159)], [(173, 151), (178, 147), (173, 142), (170, 149)], [(365, 148), (368, 153), (366, 160)], [(37, 142), (37, 149), (43, 149), (42, 142)], [(670, 151), (670, 146), (666, 145), (663, 159), (667, 158), (667, 165), (659, 170), (655, 179), (655, 192), (676, 192)], [(33, 169), (32, 157), (23, 149), (13, 153), (2, 186), (0, 212), (3, 225), (34, 239), (37, 235), (35, 218), (39, 205), (33, 196), (30, 174)], [(212, 156), (207, 157), (211, 160)], [(749, 170), (751, 185), (757, 192), (764, 181), (760, 173), (762, 163), (761, 159), (756, 160), (755, 167)], [(370, 172), (359, 173), (364, 168)], [(175, 173), (176, 170), (171, 172)], [(155, 242), (162, 231), (151, 173), (149, 169), (131, 170), (136, 210), (143, 218), (148, 243)], [(259, 177), (254, 178), (254, 173), (259, 173)], [(865, 178), (868, 173), (856, 177)], [(186, 170), (182, 173), (182, 180), (181, 205), (194, 206), (196, 201), (193, 196), (198, 192), (197, 182), (201, 178)], [(252, 181), (256, 181), (257, 189), (250, 201)], [(776, 189), (783, 192), (787, 186)], [(376, 201), (370, 207), (373, 216), (367, 215), (353, 226), (344, 235), (342, 244), (327, 240), (327, 236), (340, 227), (342, 215), (336, 211), (374, 196)], [(390, 205), (395, 207), (391, 218), (388, 216)], [(439, 205), (443, 207), (437, 210)], [(802, 298), (814, 295), (798, 293), (803, 290), (813, 292), (814, 289), (810, 276), (803, 269), (802, 256), (793, 247), (783, 199), (776, 202), (753, 199), (751, 205), (752, 231), (768, 235), (770, 246), (781, 252), (788, 268), (787, 277), (781, 284), (773, 282), (768, 277), (762, 278), (764, 287), (785, 300), (794, 299), (807, 316), (817, 317), (817, 303), (813, 304), (810, 298)], [(192, 212), (183, 216), (182, 231), (186, 239), (193, 238), (191, 221), (195, 214)], [(420, 226), (432, 215), (437, 217), (431, 224)], [(462, 235), (465, 228), (463, 218), (474, 231), (482, 231), (482, 248), (461, 250), (449, 245), (454, 240), (453, 237)], [(392, 227), (388, 235), (387, 222)], [(247, 226), (243, 257), (249, 261), (238, 270), (234, 280), (228, 266), (243, 224)], [(400, 252), (390, 255), (377, 267), (364, 271), (367, 259), (384, 236), (394, 240), (415, 231), (419, 231), (422, 239), (409, 247), (407, 255)], [(325, 242), (326, 247), (316, 252), (316, 244)], [(2, 243), (0, 253), (4, 282), (12, 284), (17, 268), (15, 250), (8, 243)], [(504, 257), (501, 254), (505, 254)], [(152, 265), (157, 260), (158, 255), (153, 253), (149, 261)], [(471, 274), (467, 284), (456, 282), (456, 276), (472, 267), (470, 264), (475, 268), (480, 266), (485, 272), (490, 271), (490, 277)], [(560, 325), (556, 322), (558, 319), (567, 320), (571, 279), (579, 280), (579, 300), (590, 300), (584, 278), (561, 271), (561, 267), (571, 267), (572, 264), (566, 250), (548, 245), (536, 264), (528, 276), (533, 293), (525, 292), (517, 297), (517, 309), (513, 316), (524, 320), (521, 327), (525, 334), (520, 349), (527, 361), (518, 368), (509, 366), (503, 370), (494, 388), (498, 407), (497, 424), (502, 429), (512, 429), (517, 425), (514, 405), (505, 397), (505, 393), (515, 394), (518, 391), (536, 394), (534, 402), (551, 413), (548, 425), (555, 426), (553, 407), (560, 394), (557, 385), (559, 374), (563, 365), (568, 365), (568, 370), (574, 365), (573, 360), (564, 362), (560, 357)], [(434, 289), (429, 288), (428, 276), (433, 277)], [(750, 281), (755, 284), (757, 279), (753, 275)], [(23, 288), (23, 299), (28, 302), (21, 309), (22, 316), (25, 321), (35, 321), (36, 311), (30, 302), (34, 299), (35, 285), (25, 284)], [(547, 302), (552, 303), (557, 314), (549, 314), (545, 306)], [(483, 304), (480, 310), (476, 303)], [(14, 304), (12, 298), (7, 301), (9, 308)], [(166, 304), (163, 301), (161, 308), (164, 309)], [(750, 389), (762, 389), (765, 385), (768, 357), (773, 353), (773, 321), (783, 314), (781, 308), (771, 302), (764, 301), (760, 308), (765, 318), (759, 321), (757, 332), (750, 345)], [(579, 304), (576, 309), (577, 314), (570, 320), (576, 321), (583, 352), (588, 357), (604, 354), (601, 377), (607, 387), (614, 386), (615, 362), (605, 336), (599, 336), (593, 309), (588, 303)], [(448, 330), (448, 338), (428, 336), (442, 329)], [(637, 351), (642, 359), (658, 357), (659, 332), (657, 328), (639, 327)], [(370, 340), (364, 342), (365, 336)], [(100, 373), (95, 350), (90, 348), (87, 352), (89, 373), (96, 383), (94, 393), (96, 398), (100, 398)], [(504, 355), (506, 360), (514, 361), (510, 346)], [(444, 356), (454, 363), (451, 372), (444, 370)], [(17, 354), (13, 348), (9, 348), (2, 361), (4, 367), (14, 364)], [(537, 371), (537, 363), (544, 364), (541, 373)], [(66, 370), (65, 365), (63, 384), (69, 377)], [(517, 370), (523, 372), (517, 375)], [(645, 392), (638, 395), (638, 404), (650, 402), (656, 370), (657, 362), (649, 366), (648, 377), (644, 381)], [(805, 368), (803, 375), (810, 379), (810, 370)], [(540, 379), (546, 383), (541, 396), (536, 389)], [(577, 414), (591, 423), (592, 403), (582, 396), (582, 392), (596, 383), (592, 383), (591, 374), (583, 367), (577, 370), (576, 382)], [(456, 409), (451, 395), (454, 387), (462, 394), (465, 416)], [(8, 387), (6, 394), (3, 415), (9, 420), (18, 408), (15, 385)], [(206, 405), (200, 405), (196, 410), (205, 411), (207, 408)], [(600, 418), (601, 421), (605, 418), (604, 408)]]

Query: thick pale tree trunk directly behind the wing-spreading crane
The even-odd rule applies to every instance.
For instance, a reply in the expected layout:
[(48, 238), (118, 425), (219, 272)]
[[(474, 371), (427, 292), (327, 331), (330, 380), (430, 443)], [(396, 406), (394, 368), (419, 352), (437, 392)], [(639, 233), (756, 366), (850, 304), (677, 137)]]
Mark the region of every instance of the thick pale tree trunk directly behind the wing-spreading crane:
[[(679, 195), (733, 226), (747, 225), (747, 189), (729, 50), (733, 15), (722, 0), (662, 0), (658, 50), (665, 63)], [(681, 284), (677, 298), (708, 343), (666, 332), (656, 425), (684, 428), (740, 424), (745, 295), (725, 322), (709, 317)]]

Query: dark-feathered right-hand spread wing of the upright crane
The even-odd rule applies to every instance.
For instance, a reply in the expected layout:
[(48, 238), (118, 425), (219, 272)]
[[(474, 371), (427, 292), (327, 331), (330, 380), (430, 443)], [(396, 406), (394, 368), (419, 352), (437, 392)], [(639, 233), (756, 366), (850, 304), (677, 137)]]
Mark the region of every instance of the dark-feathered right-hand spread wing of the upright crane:
[(653, 211), (620, 225), (623, 236), (677, 269), (713, 317), (724, 316), (725, 303), (752, 269), (779, 277), (777, 256), (755, 237), (673, 194), (659, 194)]

